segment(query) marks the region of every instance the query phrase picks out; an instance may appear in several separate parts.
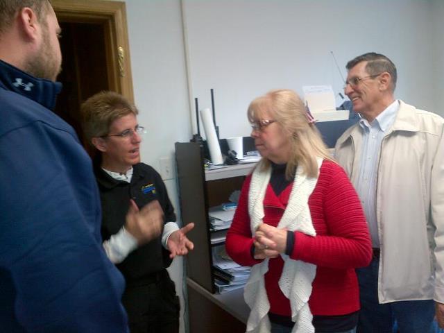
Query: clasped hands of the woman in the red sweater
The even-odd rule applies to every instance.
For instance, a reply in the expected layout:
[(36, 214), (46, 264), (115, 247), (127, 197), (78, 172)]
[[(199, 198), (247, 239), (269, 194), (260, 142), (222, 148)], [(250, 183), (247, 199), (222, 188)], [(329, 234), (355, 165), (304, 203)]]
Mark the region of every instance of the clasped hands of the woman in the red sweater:
[(256, 228), (255, 259), (275, 258), (285, 253), (287, 247), (287, 230), (278, 229), (271, 225), (261, 223)]

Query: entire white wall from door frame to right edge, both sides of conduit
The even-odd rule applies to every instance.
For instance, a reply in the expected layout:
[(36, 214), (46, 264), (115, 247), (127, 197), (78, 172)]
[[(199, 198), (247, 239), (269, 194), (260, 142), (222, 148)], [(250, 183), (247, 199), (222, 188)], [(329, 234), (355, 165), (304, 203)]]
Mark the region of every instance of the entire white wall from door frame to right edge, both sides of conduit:
[[(210, 107), (215, 89), (221, 137), (249, 135), (248, 103), (268, 89), (331, 84), (341, 92), (330, 51), (344, 76), (351, 58), (384, 53), (398, 67), (398, 98), (431, 111), (444, 104), (443, 0), (183, 1), (191, 96)], [(188, 141), (195, 126), (181, 3), (125, 2), (135, 103), (148, 128), (142, 160), (159, 169), (160, 158), (172, 158), (174, 142)], [(442, 107), (436, 112), (444, 114)], [(165, 182), (178, 212), (176, 180)], [(182, 295), (181, 259), (170, 272)]]

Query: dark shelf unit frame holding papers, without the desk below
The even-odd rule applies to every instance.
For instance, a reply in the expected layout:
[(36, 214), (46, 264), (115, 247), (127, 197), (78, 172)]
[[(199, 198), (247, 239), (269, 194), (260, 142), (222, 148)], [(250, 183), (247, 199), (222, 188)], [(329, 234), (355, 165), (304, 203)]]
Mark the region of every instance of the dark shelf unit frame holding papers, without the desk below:
[(241, 189), (254, 164), (205, 171), (203, 153), (194, 142), (176, 143), (176, 163), (182, 220), (193, 221), (195, 225), (189, 232), (195, 248), (187, 255), (187, 276), (214, 293), (212, 246), (223, 241), (212, 244), (212, 239), (221, 232), (211, 231), (208, 208), (228, 202), (230, 194)]

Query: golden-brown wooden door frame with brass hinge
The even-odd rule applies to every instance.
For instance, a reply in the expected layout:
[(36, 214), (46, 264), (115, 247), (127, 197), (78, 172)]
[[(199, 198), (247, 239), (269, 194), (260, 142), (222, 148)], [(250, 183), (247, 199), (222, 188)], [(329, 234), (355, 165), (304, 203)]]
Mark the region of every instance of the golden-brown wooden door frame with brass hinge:
[(121, 1), (51, 0), (60, 22), (103, 24), (110, 90), (134, 102), (126, 6)]

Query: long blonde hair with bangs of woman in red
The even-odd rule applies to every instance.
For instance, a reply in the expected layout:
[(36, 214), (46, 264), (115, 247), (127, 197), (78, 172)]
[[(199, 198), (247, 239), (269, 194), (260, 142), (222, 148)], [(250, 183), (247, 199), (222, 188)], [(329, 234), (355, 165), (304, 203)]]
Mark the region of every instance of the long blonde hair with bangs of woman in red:
[[(305, 105), (296, 92), (278, 89), (257, 97), (248, 106), (248, 121), (259, 121), (266, 113), (274, 118), (290, 140), (291, 150), (285, 170), (287, 179), (293, 178), (298, 165), (307, 176), (318, 176), (316, 157), (333, 161), (318, 128), (309, 122)], [(267, 169), (270, 161), (262, 159), (260, 167)]]

